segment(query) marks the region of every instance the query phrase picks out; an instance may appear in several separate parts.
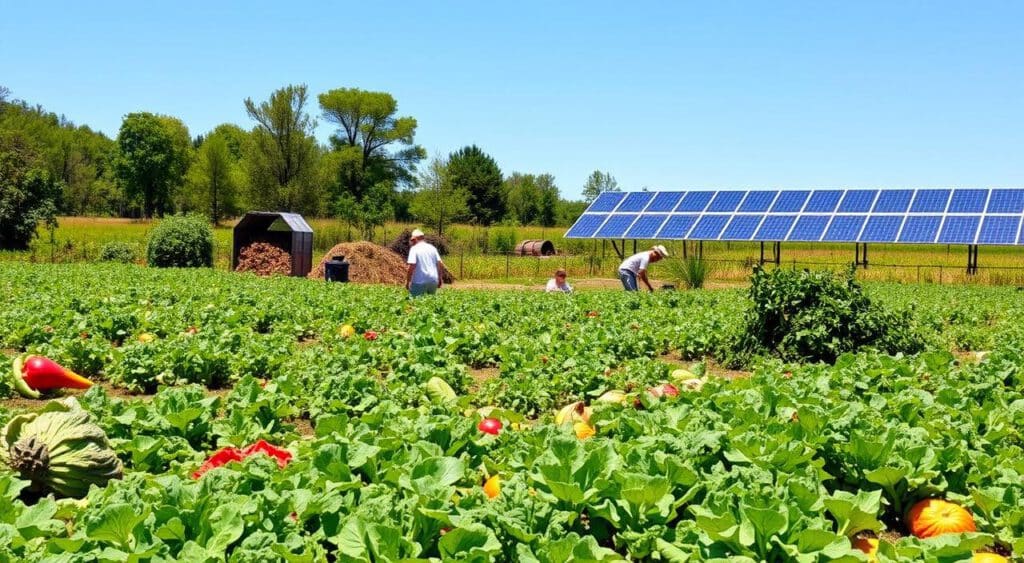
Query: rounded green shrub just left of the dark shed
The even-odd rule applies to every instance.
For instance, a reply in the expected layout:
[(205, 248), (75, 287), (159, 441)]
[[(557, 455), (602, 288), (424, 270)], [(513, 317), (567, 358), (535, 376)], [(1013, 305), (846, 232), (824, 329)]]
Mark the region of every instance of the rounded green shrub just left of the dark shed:
[(151, 266), (213, 266), (213, 228), (199, 215), (167, 217), (153, 229), (146, 252)]

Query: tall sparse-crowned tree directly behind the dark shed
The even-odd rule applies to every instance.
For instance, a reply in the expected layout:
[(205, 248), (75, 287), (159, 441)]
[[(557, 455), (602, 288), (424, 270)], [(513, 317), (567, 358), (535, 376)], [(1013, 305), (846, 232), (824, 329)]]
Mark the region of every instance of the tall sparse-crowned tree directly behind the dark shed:
[(319, 209), (315, 182), (319, 151), (307, 101), (305, 85), (275, 90), (258, 104), (246, 98), (246, 113), (256, 122), (247, 158), (254, 207), (304, 213)]

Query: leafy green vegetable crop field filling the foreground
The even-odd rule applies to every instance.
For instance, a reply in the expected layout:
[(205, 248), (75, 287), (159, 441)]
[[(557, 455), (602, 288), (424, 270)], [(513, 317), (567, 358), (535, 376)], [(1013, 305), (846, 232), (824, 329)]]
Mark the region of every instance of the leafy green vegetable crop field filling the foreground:
[[(0, 470), (0, 561), (1020, 557), (1024, 299), (866, 293), (905, 312), (923, 351), (726, 370), (743, 290), (410, 300), (4, 263), (4, 354), (95, 385), (27, 398), (15, 374), (0, 378), (0, 438), (74, 396), (123, 471), (100, 483), (75, 473), (81, 459), (50, 481), (39, 466)], [(3, 457), (24, 461), (15, 449)], [(925, 499), (969, 514), (925, 533)], [(869, 559), (858, 547), (872, 542)]]

